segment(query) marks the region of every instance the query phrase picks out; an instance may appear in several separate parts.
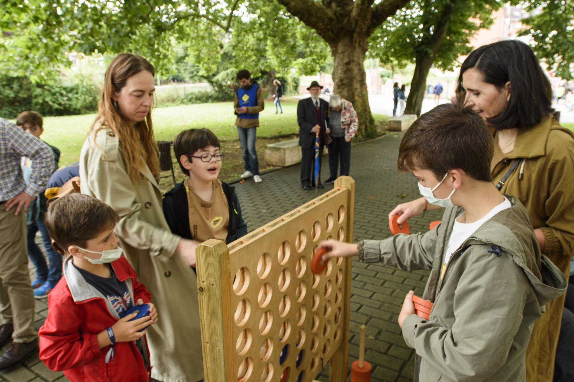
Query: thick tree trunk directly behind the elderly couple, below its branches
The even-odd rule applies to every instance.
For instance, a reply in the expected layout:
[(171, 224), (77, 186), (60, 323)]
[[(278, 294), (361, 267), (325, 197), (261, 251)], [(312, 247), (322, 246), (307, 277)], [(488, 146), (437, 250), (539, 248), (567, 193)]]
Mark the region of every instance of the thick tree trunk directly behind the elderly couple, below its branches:
[(347, 35), (329, 45), (334, 61), (334, 92), (353, 104), (359, 117), (359, 137), (374, 137), (377, 127), (371, 115), (367, 76), (363, 66), (367, 38)]

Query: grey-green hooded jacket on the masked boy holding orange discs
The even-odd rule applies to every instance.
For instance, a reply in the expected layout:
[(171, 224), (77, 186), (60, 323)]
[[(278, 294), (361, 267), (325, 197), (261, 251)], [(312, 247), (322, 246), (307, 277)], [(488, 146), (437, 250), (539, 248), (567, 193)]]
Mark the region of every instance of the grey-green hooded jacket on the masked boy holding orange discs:
[[(416, 350), (415, 380), (525, 381), (525, 353), (534, 321), (563, 294), (567, 280), (541, 255), (528, 212), (514, 197), (453, 252), (441, 280), (445, 250), (462, 208), (424, 235), (359, 243), (359, 258), (412, 271), (431, 270), (422, 298), (429, 319), (406, 317), (402, 334)], [(533, 245), (534, 243), (534, 245)]]

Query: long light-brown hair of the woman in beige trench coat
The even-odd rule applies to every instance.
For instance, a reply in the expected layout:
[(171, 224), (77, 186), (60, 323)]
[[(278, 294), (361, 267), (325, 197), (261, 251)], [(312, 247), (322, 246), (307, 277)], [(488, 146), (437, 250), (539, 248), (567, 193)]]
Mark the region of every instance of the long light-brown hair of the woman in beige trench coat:
[(112, 95), (119, 93), (126, 85), (127, 79), (137, 75), (141, 71), (148, 71), (152, 76), (156, 75), (153, 65), (144, 59), (131, 53), (118, 54), (106, 70), (102, 97), (98, 106), (98, 115), (88, 135), (95, 134), (102, 128), (111, 128), (118, 135), (119, 146), (122, 148), (123, 159), (126, 162), (127, 175), (136, 184), (145, 177), (139, 172), (147, 165), (154, 176), (160, 170), (160, 161), (157, 155), (157, 145), (153, 136), (152, 109), (141, 122), (133, 123), (122, 114), (116, 106)]

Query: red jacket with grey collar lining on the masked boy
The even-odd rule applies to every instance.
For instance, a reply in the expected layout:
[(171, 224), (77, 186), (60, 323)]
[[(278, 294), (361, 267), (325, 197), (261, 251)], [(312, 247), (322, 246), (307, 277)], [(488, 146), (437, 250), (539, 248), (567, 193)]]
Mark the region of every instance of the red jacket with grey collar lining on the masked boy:
[[(152, 295), (137, 282), (135, 271), (123, 256), (111, 266), (120, 281), (127, 280), (134, 303), (139, 298), (150, 302)], [(106, 364), (110, 346), (100, 350), (96, 335), (118, 320), (115, 309), (86, 282), (68, 256), (64, 260), (64, 277), (48, 295), (48, 318), (38, 332), (40, 360), (53, 371), (63, 371), (73, 382), (148, 381), (151, 368), (146, 370), (134, 342), (116, 342), (114, 359)], [(142, 340), (149, 360), (145, 336)]]

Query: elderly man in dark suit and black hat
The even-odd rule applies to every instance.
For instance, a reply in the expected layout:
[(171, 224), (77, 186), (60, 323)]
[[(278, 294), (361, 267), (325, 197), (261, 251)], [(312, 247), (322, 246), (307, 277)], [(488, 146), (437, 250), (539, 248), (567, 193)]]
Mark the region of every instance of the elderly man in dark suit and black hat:
[[(323, 149), (329, 130), (325, 131), (325, 121), (329, 103), (319, 98), (322, 86), (313, 81), (307, 88), (311, 98), (305, 98), (297, 104), (297, 123), (299, 125), (299, 146), (301, 146), (301, 186), (311, 190), (315, 186), (313, 163), (315, 163), (315, 136), (319, 134), (319, 166), (323, 159)], [(321, 182), (317, 185), (323, 188)]]

